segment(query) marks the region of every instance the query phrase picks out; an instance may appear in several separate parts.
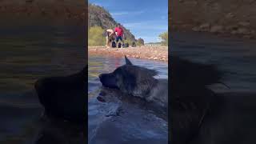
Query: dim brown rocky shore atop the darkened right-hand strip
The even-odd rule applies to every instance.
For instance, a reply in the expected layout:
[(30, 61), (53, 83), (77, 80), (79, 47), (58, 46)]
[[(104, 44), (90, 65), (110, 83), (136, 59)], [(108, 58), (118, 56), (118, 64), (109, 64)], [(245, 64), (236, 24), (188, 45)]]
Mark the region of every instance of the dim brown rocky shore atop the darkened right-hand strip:
[(256, 0), (170, 2), (170, 28), (256, 38)]

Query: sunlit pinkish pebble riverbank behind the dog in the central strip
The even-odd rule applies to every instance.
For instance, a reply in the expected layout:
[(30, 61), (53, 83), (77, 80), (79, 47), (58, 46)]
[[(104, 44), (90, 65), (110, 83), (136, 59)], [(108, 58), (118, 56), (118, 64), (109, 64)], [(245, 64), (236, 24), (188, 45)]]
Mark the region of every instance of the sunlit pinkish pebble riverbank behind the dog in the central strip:
[(168, 62), (168, 46), (137, 46), (129, 48), (106, 48), (106, 46), (88, 46), (88, 54), (108, 55), (113, 57), (123, 57), (126, 55), (131, 58), (150, 59)]

